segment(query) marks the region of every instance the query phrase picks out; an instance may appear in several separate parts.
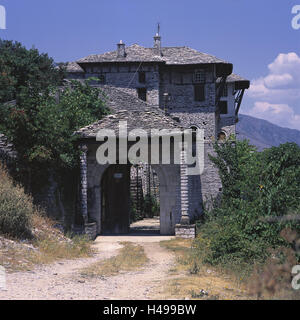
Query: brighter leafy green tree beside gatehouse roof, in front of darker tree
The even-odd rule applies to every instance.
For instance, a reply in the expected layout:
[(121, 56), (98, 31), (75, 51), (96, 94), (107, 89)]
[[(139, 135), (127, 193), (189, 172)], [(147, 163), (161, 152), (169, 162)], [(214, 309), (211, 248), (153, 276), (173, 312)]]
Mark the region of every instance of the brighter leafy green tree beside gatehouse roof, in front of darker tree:
[(30, 180), (35, 181), (47, 181), (49, 170), (59, 179), (62, 171), (76, 168), (79, 153), (73, 133), (108, 112), (101, 90), (88, 81), (74, 80), (70, 86), (47, 91), (28, 94), (22, 105), (6, 104), (0, 110), (3, 133), (18, 152), (21, 177), (30, 172)]

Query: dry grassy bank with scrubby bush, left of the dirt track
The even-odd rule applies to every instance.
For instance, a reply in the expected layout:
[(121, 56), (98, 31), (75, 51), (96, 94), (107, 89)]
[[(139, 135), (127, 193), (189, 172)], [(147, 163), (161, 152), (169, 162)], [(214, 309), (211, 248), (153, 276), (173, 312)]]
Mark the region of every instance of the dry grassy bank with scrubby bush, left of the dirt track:
[(7, 271), (29, 270), (35, 264), (91, 253), (86, 237), (70, 238), (55, 228), (55, 222), (32, 204), (0, 166), (0, 265)]

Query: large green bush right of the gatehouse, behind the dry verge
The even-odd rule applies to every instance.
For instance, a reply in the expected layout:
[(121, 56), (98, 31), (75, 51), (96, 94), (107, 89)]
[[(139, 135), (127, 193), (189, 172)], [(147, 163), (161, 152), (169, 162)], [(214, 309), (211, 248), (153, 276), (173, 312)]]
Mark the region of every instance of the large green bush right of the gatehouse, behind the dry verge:
[(290, 246), (283, 229), (300, 231), (297, 219), (283, 219), (300, 212), (300, 148), (287, 143), (259, 153), (231, 140), (215, 150), (223, 198), (206, 212), (194, 248), (210, 264), (264, 262), (270, 249)]

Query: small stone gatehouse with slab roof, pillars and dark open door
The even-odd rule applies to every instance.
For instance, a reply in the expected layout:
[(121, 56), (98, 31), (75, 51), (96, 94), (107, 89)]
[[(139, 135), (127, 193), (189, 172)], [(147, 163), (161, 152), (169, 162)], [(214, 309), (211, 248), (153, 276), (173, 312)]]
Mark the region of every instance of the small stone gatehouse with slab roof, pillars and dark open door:
[[(118, 90), (115, 90), (118, 91)], [(124, 98), (123, 92), (119, 92)], [(132, 130), (143, 130), (146, 136), (144, 142), (140, 141), (140, 149), (147, 150), (148, 163), (156, 158), (151, 167), (155, 170), (159, 180), (160, 192), (160, 233), (163, 235), (175, 234), (175, 229), (181, 231), (185, 228), (194, 234), (194, 226), (190, 225), (190, 214), (188, 211), (188, 178), (184, 171), (186, 164), (178, 160), (179, 149), (176, 149), (178, 141), (182, 140), (183, 128), (180, 124), (167, 116), (158, 108), (149, 107), (139, 99), (131, 98), (130, 106), (127, 110), (115, 110), (113, 114), (106, 116), (101, 121), (81, 129), (80, 147), (81, 153), (81, 212), (87, 226), (96, 226), (97, 235), (99, 234), (124, 234), (129, 231), (129, 212), (130, 212), (130, 168), (131, 163), (127, 158), (132, 152), (132, 147), (137, 144), (132, 141)], [(120, 122), (126, 122), (126, 149), (120, 153), (119, 128)], [(156, 138), (150, 134), (152, 129), (162, 130)], [(105, 135), (115, 135), (116, 141), (112, 143), (115, 148), (114, 164), (100, 164), (99, 157), (101, 151), (108, 147), (108, 140), (102, 136), (99, 139), (101, 130)], [(111, 130), (111, 131), (108, 131)], [(177, 137), (174, 137), (174, 130)], [(98, 134), (98, 138), (97, 138)], [(180, 137), (178, 137), (178, 135)], [(107, 138), (107, 137), (106, 137)], [(153, 147), (152, 139), (158, 141), (158, 149)], [(102, 141), (97, 141), (102, 140)], [(139, 139), (137, 139), (139, 140)], [(169, 162), (168, 156), (162, 156), (161, 144), (169, 141)], [(105, 147), (106, 144), (106, 147)], [(137, 150), (138, 148), (136, 148)], [(131, 150), (131, 151), (130, 151)], [(110, 149), (112, 151), (112, 149)], [(157, 158), (157, 152), (159, 156)], [(139, 155), (140, 151), (137, 152)], [(103, 152), (108, 156), (107, 150)], [(140, 155), (139, 155), (140, 156)], [(180, 155), (179, 155), (180, 156)], [(98, 158), (98, 161), (97, 161)], [(101, 159), (100, 159), (101, 160)], [(103, 161), (104, 162), (104, 161)], [(125, 162), (125, 163), (124, 163)], [(200, 181), (199, 181), (200, 183)], [(195, 192), (198, 191), (197, 185)], [(199, 194), (198, 194), (199, 198)], [(195, 212), (192, 212), (195, 214)], [(201, 214), (201, 212), (198, 212)], [(192, 216), (192, 218), (195, 218)], [(182, 224), (182, 225), (180, 225)], [(179, 230), (178, 229), (178, 230)]]

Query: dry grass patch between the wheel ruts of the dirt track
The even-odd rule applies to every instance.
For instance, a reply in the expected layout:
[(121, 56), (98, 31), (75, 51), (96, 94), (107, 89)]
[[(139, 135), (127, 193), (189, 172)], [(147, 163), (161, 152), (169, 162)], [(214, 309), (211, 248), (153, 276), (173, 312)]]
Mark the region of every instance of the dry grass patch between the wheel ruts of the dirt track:
[(117, 256), (92, 264), (84, 268), (81, 274), (89, 277), (113, 276), (122, 271), (140, 270), (148, 262), (142, 246), (130, 242), (121, 244), (123, 247), (119, 249)]

